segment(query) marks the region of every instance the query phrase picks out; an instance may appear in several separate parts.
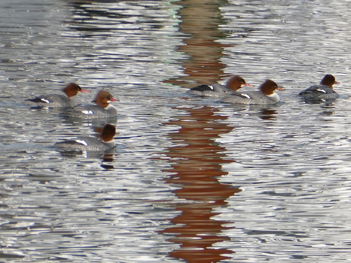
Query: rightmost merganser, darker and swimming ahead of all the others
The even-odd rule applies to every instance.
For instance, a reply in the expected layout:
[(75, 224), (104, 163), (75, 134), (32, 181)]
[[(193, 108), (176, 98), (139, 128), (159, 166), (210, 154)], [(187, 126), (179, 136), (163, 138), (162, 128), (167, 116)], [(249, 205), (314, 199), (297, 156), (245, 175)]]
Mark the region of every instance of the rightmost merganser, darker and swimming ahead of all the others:
[(333, 85), (339, 84), (335, 80), (335, 77), (331, 74), (326, 74), (323, 79), (320, 81), (319, 85), (313, 85), (298, 94), (300, 97), (306, 99), (337, 99), (339, 94), (337, 94)]

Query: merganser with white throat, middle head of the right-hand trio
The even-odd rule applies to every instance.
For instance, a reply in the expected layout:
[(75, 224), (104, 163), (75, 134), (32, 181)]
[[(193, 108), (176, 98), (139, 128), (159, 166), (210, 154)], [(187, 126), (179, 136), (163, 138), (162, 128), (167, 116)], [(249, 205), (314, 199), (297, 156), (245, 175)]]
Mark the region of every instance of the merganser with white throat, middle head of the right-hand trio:
[(247, 91), (226, 95), (222, 101), (243, 104), (273, 104), (280, 100), (278, 94), (275, 93), (277, 89), (284, 90), (278, 87), (277, 83), (273, 80), (266, 80), (259, 87), (259, 91)]

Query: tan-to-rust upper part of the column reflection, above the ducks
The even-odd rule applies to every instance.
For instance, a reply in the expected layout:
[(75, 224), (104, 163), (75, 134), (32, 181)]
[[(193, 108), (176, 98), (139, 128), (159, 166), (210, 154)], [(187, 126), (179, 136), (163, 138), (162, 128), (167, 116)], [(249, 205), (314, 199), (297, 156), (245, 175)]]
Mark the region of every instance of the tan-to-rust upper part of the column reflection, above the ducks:
[[(216, 42), (225, 38), (225, 32), (218, 29), (223, 24), (219, 7), (227, 4), (226, 0), (183, 0), (176, 4), (183, 6), (178, 11), (182, 22), (179, 23), (179, 31), (191, 35), (184, 39), (184, 44), (178, 47), (179, 52), (190, 55), (188, 60), (182, 60), (184, 73), (177, 79), (165, 82), (191, 88), (194, 84), (188, 81), (197, 81), (198, 84), (218, 82), (225, 75), (225, 65), (221, 63), (223, 49), (226, 45)], [(235, 74), (233, 74), (235, 75)]]

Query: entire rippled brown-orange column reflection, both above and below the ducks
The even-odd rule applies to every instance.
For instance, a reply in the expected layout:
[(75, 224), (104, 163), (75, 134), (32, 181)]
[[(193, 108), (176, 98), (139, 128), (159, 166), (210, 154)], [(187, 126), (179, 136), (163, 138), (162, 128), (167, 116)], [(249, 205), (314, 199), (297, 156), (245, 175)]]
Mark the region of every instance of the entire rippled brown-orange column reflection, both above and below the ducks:
[[(223, 23), (219, 7), (227, 1), (184, 0), (177, 4), (183, 6), (178, 11), (182, 21), (179, 29), (191, 36), (178, 50), (190, 59), (181, 61), (186, 76), (167, 82), (188, 88), (194, 86), (189, 82), (218, 82), (225, 75), (225, 65), (220, 62), (224, 46), (216, 42), (225, 37), (218, 29)], [(180, 187), (173, 193), (180, 200), (176, 210), (181, 211), (179, 216), (170, 219), (175, 226), (162, 231), (172, 235), (168, 241), (180, 244), (180, 248), (169, 255), (204, 263), (230, 258), (225, 254), (234, 253), (232, 250), (216, 249), (213, 244), (230, 240), (223, 230), (228, 229), (226, 224), (233, 222), (218, 221), (213, 217), (239, 189), (218, 181), (220, 176), (227, 174), (222, 170), (222, 164), (235, 161), (226, 159), (226, 149), (214, 140), (221, 134), (230, 133), (234, 127), (222, 122), (227, 117), (216, 114), (218, 110), (210, 106), (177, 109), (185, 113), (164, 123), (180, 127), (177, 133), (168, 134), (176, 145), (165, 150), (172, 163), (171, 169), (167, 170), (172, 176), (166, 181)]]

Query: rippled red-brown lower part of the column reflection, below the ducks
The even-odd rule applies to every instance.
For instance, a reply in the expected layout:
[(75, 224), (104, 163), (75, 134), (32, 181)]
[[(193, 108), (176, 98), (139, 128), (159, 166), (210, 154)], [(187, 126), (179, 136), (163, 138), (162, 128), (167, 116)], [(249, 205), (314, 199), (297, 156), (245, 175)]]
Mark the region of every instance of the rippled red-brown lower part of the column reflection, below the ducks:
[(175, 173), (166, 181), (181, 184), (181, 189), (173, 193), (187, 202), (176, 204), (176, 210), (181, 214), (170, 219), (179, 226), (162, 232), (175, 235), (169, 241), (181, 244), (181, 248), (172, 251), (170, 256), (188, 262), (217, 262), (230, 258), (223, 254), (233, 253), (232, 250), (211, 248), (214, 243), (230, 239), (221, 235), (221, 231), (228, 229), (224, 224), (231, 222), (213, 220), (212, 217), (218, 215), (213, 209), (225, 205), (225, 200), (240, 190), (218, 182), (217, 176), (227, 174), (221, 170), (221, 164), (235, 161), (223, 159), (225, 148), (213, 139), (229, 133), (233, 127), (221, 123), (220, 120), (226, 117), (215, 115), (212, 107), (181, 109), (190, 114), (176, 116), (178, 120), (164, 123), (180, 126), (178, 133), (169, 134), (179, 145), (166, 149), (173, 163), (172, 169), (166, 171)]

